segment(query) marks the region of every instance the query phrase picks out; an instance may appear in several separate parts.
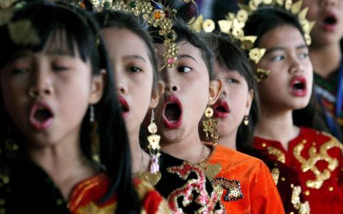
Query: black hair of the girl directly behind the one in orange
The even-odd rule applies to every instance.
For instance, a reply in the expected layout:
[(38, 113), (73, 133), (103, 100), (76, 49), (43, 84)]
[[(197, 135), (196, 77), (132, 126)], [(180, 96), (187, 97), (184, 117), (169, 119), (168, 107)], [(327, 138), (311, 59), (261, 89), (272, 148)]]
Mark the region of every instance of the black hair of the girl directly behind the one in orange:
[[(238, 127), (236, 147), (237, 150), (249, 150), (252, 148), (252, 137), (255, 126), (259, 119), (259, 96), (257, 94), (257, 82), (252, 71), (251, 64), (245, 52), (241, 51), (238, 44), (231, 41), (228, 36), (223, 34), (209, 34), (209, 44), (211, 44), (215, 53), (215, 59), (220, 66), (228, 70), (237, 70), (241, 77), (244, 77), (248, 84), (248, 90), (254, 91), (254, 98), (251, 103), (250, 113), (248, 115), (248, 126), (241, 123)], [(229, 71), (228, 71), (229, 72)]]

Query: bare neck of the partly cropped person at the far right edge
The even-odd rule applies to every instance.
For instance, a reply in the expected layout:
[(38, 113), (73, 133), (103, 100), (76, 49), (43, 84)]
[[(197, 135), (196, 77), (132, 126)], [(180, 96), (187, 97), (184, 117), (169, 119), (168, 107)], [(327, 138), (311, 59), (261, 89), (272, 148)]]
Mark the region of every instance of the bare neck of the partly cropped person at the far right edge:
[(340, 43), (320, 47), (310, 46), (309, 55), (314, 71), (324, 78), (339, 68), (342, 59)]

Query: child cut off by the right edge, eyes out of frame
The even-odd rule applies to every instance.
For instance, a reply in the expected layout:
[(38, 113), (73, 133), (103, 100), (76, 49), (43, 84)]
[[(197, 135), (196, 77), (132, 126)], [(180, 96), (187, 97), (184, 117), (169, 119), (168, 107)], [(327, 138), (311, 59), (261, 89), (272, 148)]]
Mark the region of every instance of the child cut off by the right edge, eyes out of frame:
[(314, 128), (343, 140), (343, 2), (304, 0), (307, 18), (316, 21), (311, 31), (309, 56), (314, 66), (314, 90), (318, 101), (318, 119)]

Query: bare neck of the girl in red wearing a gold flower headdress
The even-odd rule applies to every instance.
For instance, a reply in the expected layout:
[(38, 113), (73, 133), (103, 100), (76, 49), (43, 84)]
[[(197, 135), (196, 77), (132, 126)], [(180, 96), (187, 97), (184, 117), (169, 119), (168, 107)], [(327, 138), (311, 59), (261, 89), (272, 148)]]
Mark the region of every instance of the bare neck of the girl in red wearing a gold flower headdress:
[(268, 108), (261, 107), (261, 117), (255, 129), (255, 136), (281, 142), (283, 148), (287, 150), (289, 141), (298, 133), (298, 127), (293, 124), (292, 110), (272, 112)]

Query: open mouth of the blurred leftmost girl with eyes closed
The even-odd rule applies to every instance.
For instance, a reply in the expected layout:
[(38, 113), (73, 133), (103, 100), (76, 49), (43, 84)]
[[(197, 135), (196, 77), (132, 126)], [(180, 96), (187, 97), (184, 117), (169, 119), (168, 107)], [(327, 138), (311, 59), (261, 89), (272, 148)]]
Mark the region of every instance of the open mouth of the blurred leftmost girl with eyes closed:
[(29, 123), (36, 130), (49, 128), (54, 120), (54, 113), (47, 103), (36, 102), (29, 114)]

